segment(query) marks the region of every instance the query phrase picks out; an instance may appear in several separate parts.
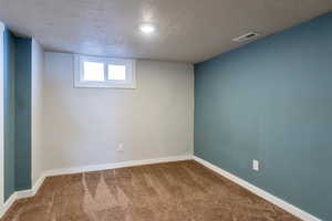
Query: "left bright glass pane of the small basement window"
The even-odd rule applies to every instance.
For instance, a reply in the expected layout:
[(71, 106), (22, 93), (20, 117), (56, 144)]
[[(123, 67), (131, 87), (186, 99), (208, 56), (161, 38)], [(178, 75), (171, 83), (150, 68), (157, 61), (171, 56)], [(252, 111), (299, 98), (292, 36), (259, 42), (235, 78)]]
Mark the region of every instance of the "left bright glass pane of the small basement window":
[(104, 81), (104, 64), (97, 62), (84, 62), (84, 81)]

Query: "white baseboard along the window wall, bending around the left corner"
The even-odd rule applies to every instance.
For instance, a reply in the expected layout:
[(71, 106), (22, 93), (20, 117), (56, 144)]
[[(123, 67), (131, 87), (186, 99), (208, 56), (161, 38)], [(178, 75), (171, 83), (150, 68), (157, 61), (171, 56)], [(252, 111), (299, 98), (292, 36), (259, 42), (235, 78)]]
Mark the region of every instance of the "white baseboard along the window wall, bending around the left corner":
[(193, 156), (185, 155), (185, 156), (132, 160), (132, 161), (124, 161), (124, 162), (92, 165), (92, 166), (84, 166), (84, 167), (48, 170), (42, 173), (42, 176), (38, 179), (38, 181), (32, 187), (32, 189), (15, 191), (14, 193), (12, 193), (12, 196), (6, 201), (3, 207), (0, 208), (0, 219), (2, 218), (2, 215), (4, 215), (4, 213), (9, 210), (9, 208), (12, 206), (12, 203), (15, 200), (33, 197), (38, 192), (39, 188), (42, 186), (42, 183), (44, 182), (44, 179), (46, 177), (52, 177), (52, 176), (58, 176), (58, 175), (89, 172), (89, 171), (100, 171), (100, 170), (105, 170), (105, 169), (116, 169), (116, 168), (134, 167), (134, 166), (142, 166), (142, 165), (154, 165), (154, 164), (159, 164), (159, 162), (181, 161), (181, 160), (188, 160), (188, 159), (193, 159)]

